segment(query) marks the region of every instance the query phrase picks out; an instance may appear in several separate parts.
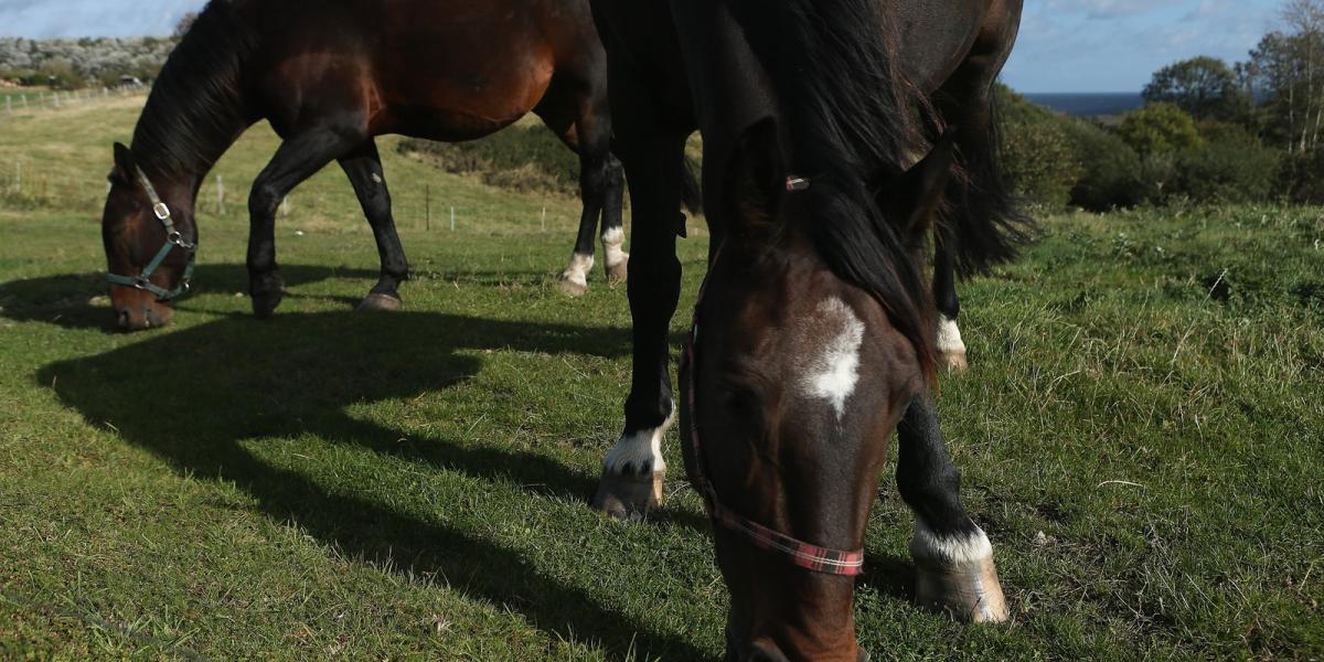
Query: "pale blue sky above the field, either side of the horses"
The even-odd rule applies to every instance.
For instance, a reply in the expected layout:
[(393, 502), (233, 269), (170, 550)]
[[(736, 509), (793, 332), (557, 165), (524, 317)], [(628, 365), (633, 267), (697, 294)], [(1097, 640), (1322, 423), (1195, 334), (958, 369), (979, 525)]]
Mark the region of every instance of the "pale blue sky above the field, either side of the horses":
[[(0, 0), (0, 36), (169, 34), (203, 0)], [(1279, 0), (1026, 0), (1004, 79), (1021, 91), (1139, 91), (1193, 56), (1243, 60)]]

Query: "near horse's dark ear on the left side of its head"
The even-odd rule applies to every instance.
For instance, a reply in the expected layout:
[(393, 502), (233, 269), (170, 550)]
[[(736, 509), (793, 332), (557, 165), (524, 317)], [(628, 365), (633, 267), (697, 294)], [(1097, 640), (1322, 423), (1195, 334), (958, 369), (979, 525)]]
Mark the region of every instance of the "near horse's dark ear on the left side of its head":
[(764, 118), (740, 134), (727, 162), (727, 208), (731, 224), (755, 229), (777, 216), (786, 195), (777, 120)]

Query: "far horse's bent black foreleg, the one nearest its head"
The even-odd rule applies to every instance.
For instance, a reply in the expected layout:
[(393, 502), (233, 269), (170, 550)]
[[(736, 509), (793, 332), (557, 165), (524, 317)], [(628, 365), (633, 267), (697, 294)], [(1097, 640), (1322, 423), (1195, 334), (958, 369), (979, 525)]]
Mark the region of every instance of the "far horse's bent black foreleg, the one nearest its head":
[(344, 152), (343, 135), (331, 130), (299, 134), (281, 143), (249, 193), (249, 294), (253, 312), (267, 318), (285, 297), (285, 279), (275, 263), (275, 211), (285, 196)]

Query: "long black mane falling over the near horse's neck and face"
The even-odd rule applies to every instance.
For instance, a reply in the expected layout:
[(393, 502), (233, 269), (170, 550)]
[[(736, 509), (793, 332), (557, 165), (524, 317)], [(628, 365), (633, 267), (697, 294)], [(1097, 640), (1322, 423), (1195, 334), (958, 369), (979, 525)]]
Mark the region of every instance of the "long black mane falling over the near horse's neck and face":
[(790, 163), (813, 177), (802, 195), (830, 218), (802, 229), (839, 278), (887, 310), (932, 373), (932, 297), (912, 242), (883, 216), (870, 183), (903, 172), (939, 120), (895, 65), (896, 28), (882, 4), (739, 0), (736, 7), (776, 87)]

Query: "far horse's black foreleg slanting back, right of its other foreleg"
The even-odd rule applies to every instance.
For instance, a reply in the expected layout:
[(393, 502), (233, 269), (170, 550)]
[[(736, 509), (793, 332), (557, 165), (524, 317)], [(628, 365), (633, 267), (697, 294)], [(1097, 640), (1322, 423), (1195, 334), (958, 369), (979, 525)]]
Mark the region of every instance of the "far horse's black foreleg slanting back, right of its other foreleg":
[(399, 310), (404, 303), (400, 298), (400, 283), (409, 278), (409, 262), (404, 246), (396, 233), (396, 221), (391, 214), (391, 191), (381, 169), (381, 156), (377, 143), (368, 139), (346, 156), (340, 158), (340, 168), (354, 184), (354, 192), (363, 207), (363, 214), (372, 226), (372, 238), (377, 242), (377, 257), (381, 260), (381, 277), (368, 297), (359, 303), (359, 311)]

